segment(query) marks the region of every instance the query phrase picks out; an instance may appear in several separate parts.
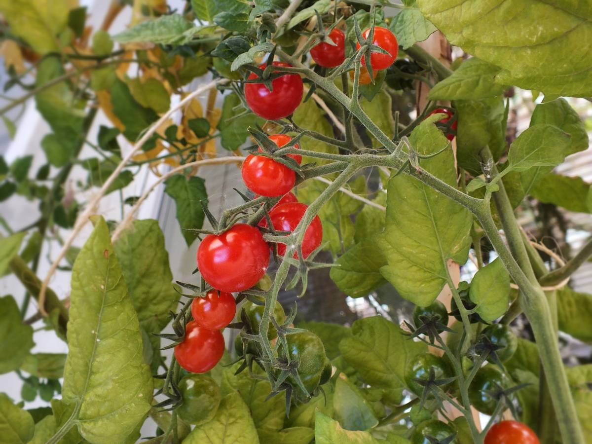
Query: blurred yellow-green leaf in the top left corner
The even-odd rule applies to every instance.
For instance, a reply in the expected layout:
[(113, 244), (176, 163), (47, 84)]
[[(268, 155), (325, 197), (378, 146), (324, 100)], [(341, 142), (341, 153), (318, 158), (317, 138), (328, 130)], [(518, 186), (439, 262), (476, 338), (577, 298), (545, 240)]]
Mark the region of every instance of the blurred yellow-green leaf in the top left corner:
[(60, 50), (57, 34), (67, 26), (71, 4), (69, 0), (0, 0), (0, 12), (11, 34), (43, 55)]

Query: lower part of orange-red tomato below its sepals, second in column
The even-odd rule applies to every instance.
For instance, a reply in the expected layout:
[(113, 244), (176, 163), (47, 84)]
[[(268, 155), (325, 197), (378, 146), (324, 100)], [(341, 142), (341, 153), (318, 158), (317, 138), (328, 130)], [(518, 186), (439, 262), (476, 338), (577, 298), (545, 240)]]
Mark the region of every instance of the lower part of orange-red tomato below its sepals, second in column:
[(296, 182), (294, 170), (269, 157), (252, 154), (244, 159), (242, 176), (247, 188), (265, 197), (286, 194)]

